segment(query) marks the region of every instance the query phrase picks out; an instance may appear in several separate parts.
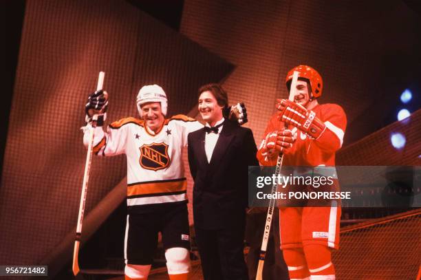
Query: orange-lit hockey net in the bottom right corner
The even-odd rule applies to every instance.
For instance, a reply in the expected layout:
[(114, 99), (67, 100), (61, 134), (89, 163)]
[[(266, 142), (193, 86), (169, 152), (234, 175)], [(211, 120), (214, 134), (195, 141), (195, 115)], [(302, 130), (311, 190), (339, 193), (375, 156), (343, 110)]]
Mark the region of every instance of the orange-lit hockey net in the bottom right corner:
[(420, 279), (421, 208), (341, 229), (337, 279)]

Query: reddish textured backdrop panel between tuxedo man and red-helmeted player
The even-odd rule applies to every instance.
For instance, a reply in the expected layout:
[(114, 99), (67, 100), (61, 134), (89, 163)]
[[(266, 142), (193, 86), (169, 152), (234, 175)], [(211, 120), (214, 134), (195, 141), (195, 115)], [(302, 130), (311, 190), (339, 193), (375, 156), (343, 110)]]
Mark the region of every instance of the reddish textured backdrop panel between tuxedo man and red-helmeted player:
[(180, 32), (234, 63), (224, 82), (230, 103), (244, 101), (255, 140), (274, 112), (288, 1), (185, 1)]

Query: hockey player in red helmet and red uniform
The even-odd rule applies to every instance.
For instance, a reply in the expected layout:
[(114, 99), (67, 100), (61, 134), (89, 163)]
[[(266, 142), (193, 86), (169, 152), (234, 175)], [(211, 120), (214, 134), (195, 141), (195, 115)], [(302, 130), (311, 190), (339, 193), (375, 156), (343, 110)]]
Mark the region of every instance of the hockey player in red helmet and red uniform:
[[(294, 71), (299, 72), (294, 101), (277, 100), (279, 112), (268, 122), (257, 158), (262, 165), (274, 166), (283, 153), (283, 166), (334, 166), (335, 153), (343, 143), (345, 112), (336, 104), (319, 104), (323, 80), (307, 65), (288, 72), (288, 91)], [(281, 249), (290, 279), (335, 279), (331, 249), (338, 249), (341, 206), (336, 202), (285, 206), (279, 215)]]

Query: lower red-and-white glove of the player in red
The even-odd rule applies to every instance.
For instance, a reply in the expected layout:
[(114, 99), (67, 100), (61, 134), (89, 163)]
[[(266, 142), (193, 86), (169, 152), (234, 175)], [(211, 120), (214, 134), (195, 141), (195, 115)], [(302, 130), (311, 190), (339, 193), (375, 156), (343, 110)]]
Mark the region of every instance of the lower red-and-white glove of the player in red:
[(292, 148), (296, 140), (296, 129), (293, 131), (289, 129), (281, 129), (280, 131), (272, 131), (268, 133), (266, 139), (263, 140), (262, 153), (272, 155), (275, 153), (284, 153), (287, 149)]

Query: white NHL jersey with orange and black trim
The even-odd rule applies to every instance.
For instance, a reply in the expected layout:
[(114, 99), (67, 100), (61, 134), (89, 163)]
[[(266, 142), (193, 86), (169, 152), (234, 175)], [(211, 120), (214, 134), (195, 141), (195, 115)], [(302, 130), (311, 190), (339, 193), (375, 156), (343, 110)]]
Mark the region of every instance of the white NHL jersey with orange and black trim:
[[(188, 133), (202, 127), (193, 118), (176, 115), (166, 119), (155, 134), (137, 118), (113, 122), (106, 133), (102, 127), (95, 128), (96, 155), (126, 154), (129, 213), (187, 203), (182, 149), (187, 145)], [(89, 129), (85, 129), (85, 146), (88, 142)]]

